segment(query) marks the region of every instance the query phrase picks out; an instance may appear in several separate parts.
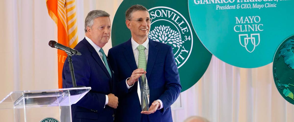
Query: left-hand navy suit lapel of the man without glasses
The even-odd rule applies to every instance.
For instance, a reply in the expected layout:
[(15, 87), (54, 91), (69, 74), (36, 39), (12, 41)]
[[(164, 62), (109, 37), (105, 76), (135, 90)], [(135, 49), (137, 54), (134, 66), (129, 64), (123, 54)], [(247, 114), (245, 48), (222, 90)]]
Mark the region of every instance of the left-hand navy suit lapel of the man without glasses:
[(89, 51), (92, 53), (93, 58), (96, 60), (96, 62), (98, 63), (98, 65), (101, 67), (101, 69), (106, 73), (106, 75), (108, 76), (109, 79), (111, 79), (104, 63), (102, 62), (100, 56), (98, 55), (98, 53), (96, 52), (96, 50), (94, 49), (94, 47), (84, 38), (83, 43), (88, 47)]

